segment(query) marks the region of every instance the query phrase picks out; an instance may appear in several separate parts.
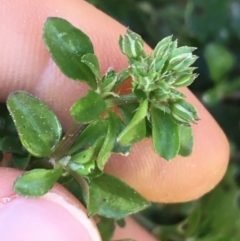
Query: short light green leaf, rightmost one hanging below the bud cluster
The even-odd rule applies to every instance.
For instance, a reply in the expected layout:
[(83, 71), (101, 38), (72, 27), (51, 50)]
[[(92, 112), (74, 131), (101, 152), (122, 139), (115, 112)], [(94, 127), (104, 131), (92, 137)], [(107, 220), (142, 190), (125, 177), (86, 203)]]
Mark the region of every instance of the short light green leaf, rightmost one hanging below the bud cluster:
[(188, 126), (178, 126), (179, 137), (180, 137), (180, 149), (179, 155), (190, 156), (193, 148), (193, 131)]

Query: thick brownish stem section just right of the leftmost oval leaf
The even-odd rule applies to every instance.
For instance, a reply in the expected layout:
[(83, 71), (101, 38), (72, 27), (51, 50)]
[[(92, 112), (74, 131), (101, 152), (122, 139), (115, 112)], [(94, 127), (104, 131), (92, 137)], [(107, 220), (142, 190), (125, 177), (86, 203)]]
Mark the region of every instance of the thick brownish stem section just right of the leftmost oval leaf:
[(79, 134), (87, 127), (87, 125), (88, 124), (73, 125), (53, 150), (50, 159), (54, 160), (54, 162), (60, 160), (74, 144)]

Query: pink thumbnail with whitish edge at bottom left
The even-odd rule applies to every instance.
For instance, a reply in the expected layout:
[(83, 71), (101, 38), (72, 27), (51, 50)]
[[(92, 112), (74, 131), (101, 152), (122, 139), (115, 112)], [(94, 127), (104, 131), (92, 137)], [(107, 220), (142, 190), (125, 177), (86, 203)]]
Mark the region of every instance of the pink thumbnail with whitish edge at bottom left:
[(41, 198), (1, 198), (1, 240), (100, 241), (93, 221), (82, 208), (53, 192)]

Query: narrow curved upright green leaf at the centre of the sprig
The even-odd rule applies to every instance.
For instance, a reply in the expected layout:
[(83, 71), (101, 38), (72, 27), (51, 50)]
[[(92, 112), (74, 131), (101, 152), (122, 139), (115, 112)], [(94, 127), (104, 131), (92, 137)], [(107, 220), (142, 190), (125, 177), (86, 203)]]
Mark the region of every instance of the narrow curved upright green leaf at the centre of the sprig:
[(106, 138), (104, 140), (102, 149), (100, 150), (97, 157), (97, 164), (100, 170), (103, 170), (105, 164), (107, 163), (115, 144), (116, 139), (116, 122), (115, 114), (112, 111), (108, 112), (109, 124)]

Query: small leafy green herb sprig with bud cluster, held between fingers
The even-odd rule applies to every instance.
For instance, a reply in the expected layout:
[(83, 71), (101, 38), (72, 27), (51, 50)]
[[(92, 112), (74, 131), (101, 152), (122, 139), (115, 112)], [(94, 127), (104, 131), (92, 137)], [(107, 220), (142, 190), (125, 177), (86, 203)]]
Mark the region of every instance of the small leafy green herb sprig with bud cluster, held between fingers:
[[(89, 216), (101, 217), (102, 238), (110, 240), (115, 222), (124, 225), (124, 217), (149, 205), (126, 183), (104, 173), (111, 153), (128, 155), (135, 143), (152, 138), (153, 149), (166, 160), (191, 154), (190, 124), (199, 117), (177, 88), (197, 77), (190, 67), (196, 60), (194, 48), (178, 47), (167, 37), (148, 55), (142, 38), (128, 29), (119, 39), (128, 68), (109, 68), (101, 76), (91, 40), (66, 20), (49, 18), (43, 38), (63, 74), (90, 89), (70, 108), (75, 124), (64, 135), (41, 100), (25, 91), (11, 93), (7, 109), (13, 122), (1, 106), (0, 154), (11, 152), (9, 165), (28, 170), (16, 179), (15, 192), (38, 197), (59, 181), (85, 204)], [(131, 92), (119, 94), (129, 78)]]

